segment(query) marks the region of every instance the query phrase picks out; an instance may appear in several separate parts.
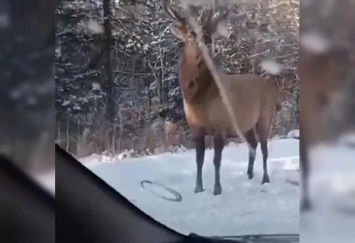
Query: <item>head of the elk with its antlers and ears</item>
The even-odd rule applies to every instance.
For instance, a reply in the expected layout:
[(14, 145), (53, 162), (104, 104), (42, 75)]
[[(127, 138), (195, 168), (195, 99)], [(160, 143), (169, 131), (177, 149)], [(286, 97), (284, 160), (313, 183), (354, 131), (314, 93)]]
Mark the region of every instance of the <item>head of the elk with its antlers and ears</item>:
[[(172, 9), (170, 0), (163, 0), (163, 6), (165, 12), (174, 21), (175, 25), (170, 27), (172, 33), (184, 42), (184, 52), (187, 60), (189, 60), (191, 64), (195, 62), (199, 65), (203, 58), (201, 57), (199, 43), (196, 40), (196, 33), (190, 27), (186, 14), (181, 15), (178, 11)], [(213, 10), (209, 9), (200, 18), (198, 18), (199, 13), (196, 6), (189, 5), (189, 8), (193, 15), (192, 17), (199, 19), (199, 25), (203, 30), (204, 44), (207, 46), (211, 45), (212, 36), (218, 33), (217, 27), (220, 23), (226, 21), (228, 12), (213, 18)]]

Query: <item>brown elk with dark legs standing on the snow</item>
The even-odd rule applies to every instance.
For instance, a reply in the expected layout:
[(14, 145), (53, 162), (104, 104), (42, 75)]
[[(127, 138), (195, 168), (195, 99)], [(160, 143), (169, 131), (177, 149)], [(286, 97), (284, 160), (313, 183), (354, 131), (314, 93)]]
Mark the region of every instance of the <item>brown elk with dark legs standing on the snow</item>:
[[(169, 0), (163, 0), (164, 10), (174, 21), (172, 33), (184, 42), (184, 49), (179, 60), (178, 80), (181, 88), (183, 109), (186, 120), (193, 134), (196, 145), (197, 176), (195, 193), (202, 192), (202, 167), (205, 157), (205, 136), (213, 136), (215, 180), (213, 194), (222, 192), (220, 184), (220, 164), (225, 140), (237, 137), (232, 121), (227, 112), (211, 71), (201, 55), (201, 48), (196, 39), (196, 33), (189, 26), (186, 17), (174, 10)], [(197, 14), (196, 11), (193, 12)], [(226, 20), (227, 14), (212, 18), (213, 11), (207, 12), (201, 18), (203, 41), (211, 45), (212, 35), (217, 32), (217, 26)], [(263, 154), (263, 183), (269, 183), (267, 171), (267, 138), (272, 118), (278, 104), (278, 84), (256, 74), (225, 74), (219, 70), (219, 75), (227, 87), (227, 92), (238, 118), (237, 124), (249, 144), (249, 165), (247, 175), (253, 178), (255, 149), (259, 137)]]

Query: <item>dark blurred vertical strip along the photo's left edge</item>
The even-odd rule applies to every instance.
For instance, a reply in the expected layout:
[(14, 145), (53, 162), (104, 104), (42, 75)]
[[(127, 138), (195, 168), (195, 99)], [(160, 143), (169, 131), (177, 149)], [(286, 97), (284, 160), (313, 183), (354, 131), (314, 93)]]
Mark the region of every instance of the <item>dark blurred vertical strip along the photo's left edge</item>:
[(54, 32), (54, 0), (0, 1), (3, 243), (55, 242), (54, 199), (22, 173), (43, 180), (51, 172), (45, 181), (52, 188), (55, 184)]

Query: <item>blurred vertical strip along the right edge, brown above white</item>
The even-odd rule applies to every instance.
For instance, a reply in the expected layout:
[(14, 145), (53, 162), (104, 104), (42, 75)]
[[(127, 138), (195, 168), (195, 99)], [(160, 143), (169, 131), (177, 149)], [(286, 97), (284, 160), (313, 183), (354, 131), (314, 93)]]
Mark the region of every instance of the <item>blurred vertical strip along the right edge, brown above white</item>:
[(354, 18), (352, 0), (301, 1), (300, 156), (313, 209), (301, 214), (302, 242), (355, 239)]

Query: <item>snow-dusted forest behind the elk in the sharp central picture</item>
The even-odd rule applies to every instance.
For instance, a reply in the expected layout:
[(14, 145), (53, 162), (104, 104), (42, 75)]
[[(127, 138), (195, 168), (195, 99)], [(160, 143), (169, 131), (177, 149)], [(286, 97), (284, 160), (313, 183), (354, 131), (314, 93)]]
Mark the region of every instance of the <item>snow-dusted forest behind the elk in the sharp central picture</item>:
[[(299, 1), (205, 0), (228, 11), (213, 60), (227, 73), (280, 63), (284, 102), (271, 135), (299, 127)], [(179, 2), (173, 1), (179, 8)], [(178, 83), (183, 43), (162, 0), (56, 0), (56, 142), (78, 157), (192, 148)], [(208, 138), (207, 138), (208, 139)], [(238, 142), (238, 141), (236, 141)], [(211, 146), (211, 141), (207, 142)]]

